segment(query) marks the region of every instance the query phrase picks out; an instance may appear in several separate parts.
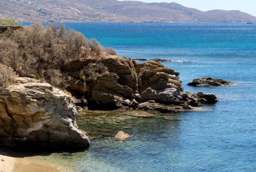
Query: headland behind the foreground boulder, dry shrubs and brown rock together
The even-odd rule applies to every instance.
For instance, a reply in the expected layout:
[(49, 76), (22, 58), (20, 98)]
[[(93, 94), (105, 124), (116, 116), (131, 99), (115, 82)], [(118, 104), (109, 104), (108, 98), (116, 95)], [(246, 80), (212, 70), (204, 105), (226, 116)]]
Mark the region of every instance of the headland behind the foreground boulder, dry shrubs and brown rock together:
[[(67, 89), (79, 107), (177, 112), (216, 102), (215, 95), (184, 92), (178, 72), (158, 62), (118, 57), (114, 49), (63, 25), (8, 30), (0, 37), (0, 49), (0, 64), (9, 71)], [(10, 79), (4, 77), (2, 87)]]

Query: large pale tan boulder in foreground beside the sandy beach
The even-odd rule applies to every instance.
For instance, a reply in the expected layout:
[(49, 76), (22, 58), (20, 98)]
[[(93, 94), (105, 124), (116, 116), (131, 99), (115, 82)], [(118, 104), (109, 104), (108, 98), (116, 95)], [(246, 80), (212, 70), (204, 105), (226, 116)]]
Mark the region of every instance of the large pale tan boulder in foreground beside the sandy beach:
[(28, 148), (87, 148), (71, 97), (47, 83), (18, 78), (0, 92), (0, 144)]

